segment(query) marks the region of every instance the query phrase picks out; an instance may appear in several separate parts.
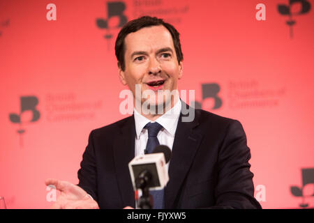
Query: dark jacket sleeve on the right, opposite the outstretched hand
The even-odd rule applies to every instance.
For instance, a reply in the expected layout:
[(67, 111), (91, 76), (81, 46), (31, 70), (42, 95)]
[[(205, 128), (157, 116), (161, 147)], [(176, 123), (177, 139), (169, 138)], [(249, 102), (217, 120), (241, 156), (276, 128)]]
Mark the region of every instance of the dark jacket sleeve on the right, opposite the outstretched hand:
[(216, 205), (211, 208), (262, 208), (254, 198), (250, 159), (244, 129), (232, 120), (218, 152)]

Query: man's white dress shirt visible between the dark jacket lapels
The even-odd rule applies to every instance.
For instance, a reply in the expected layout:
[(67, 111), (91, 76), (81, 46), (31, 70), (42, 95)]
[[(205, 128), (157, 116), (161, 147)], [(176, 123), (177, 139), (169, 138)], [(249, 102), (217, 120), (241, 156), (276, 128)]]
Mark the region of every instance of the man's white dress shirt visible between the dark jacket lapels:
[[(145, 118), (134, 109), (134, 119), (135, 119), (135, 156), (144, 154), (144, 149), (146, 148), (148, 140), (148, 130), (144, 126), (151, 122), (157, 122), (163, 126), (163, 128), (158, 132), (157, 139), (160, 145), (165, 145), (170, 148), (172, 151), (172, 146), (174, 142), (174, 134), (177, 130), (177, 124), (179, 121), (179, 116), (181, 113), (181, 100), (178, 100), (176, 105), (172, 109), (168, 110), (156, 119), (156, 121), (150, 121), (148, 118)], [(167, 164), (169, 168), (169, 162)]]

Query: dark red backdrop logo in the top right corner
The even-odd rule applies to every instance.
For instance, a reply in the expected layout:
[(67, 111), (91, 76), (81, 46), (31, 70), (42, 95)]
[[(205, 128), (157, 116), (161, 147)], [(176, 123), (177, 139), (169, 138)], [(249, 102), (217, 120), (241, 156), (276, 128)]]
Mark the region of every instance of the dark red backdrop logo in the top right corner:
[[(298, 12), (292, 12), (292, 6), (296, 3), (301, 4), (301, 9)], [(290, 37), (293, 38), (292, 26), (296, 24), (296, 21), (292, 18), (294, 15), (302, 15), (308, 13), (311, 10), (311, 3), (306, 0), (289, 0), (289, 5), (278, 5), (278, 11), (281, 15), (289, 16), (289, 19), (285, 22), (290, 26)]]

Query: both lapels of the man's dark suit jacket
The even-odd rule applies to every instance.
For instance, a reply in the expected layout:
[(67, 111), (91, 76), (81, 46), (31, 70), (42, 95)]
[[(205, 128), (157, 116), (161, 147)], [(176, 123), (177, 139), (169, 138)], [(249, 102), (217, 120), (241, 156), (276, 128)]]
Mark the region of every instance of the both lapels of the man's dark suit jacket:
[[(182, 102), (182, 107), (187, 106)], [(174, 201), (179, 194), (180, 187), (190, 169), (197, 148), (203, 135), (195, 130), (198, 125), (198, 115), (191, 122), (182, 122), (182, 114), (179, 117), (177, 131), (172, 146), (172, 158), (169, 167), (169, 182), (165, 187), (165, 208), (175, 208)], [(119, 134), (114, 139), (113, 153), (114, 164), (117, 171), (117, 180), (121, 194), (122, 208), (135, 206), (133, 185), (128, 169), (128, 162), (135, 155), (135, 121), (134, 116), (126, 118), (119, 123)]]

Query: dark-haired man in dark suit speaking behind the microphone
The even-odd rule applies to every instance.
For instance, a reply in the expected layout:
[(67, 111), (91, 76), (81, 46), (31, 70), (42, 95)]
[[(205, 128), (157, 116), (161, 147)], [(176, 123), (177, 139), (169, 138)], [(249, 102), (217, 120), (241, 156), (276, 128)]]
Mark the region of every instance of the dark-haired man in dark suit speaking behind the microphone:
[[(53, 208), (135, 208), (128, 162), (152, 141), (172, 150), (170, 181), (154, 195), (160, 208), (260, 208), (241, 123), (194, 110), (177, 94), (158, 97), (160, 91), (177, 92), (182, 77), (177, 30), (156, 17), (140, 17), (121, 29), (115, 49), (120, 80), (140, 106), (133, 116), (91, 132), (78, 185), (46, 180), (61, 191)], [(143, 97), (147, 91), (156, 97)], [(184, 121), (187, 116), (192, 118)]]

